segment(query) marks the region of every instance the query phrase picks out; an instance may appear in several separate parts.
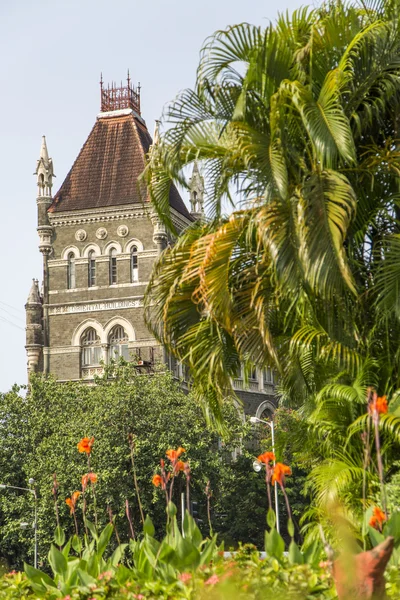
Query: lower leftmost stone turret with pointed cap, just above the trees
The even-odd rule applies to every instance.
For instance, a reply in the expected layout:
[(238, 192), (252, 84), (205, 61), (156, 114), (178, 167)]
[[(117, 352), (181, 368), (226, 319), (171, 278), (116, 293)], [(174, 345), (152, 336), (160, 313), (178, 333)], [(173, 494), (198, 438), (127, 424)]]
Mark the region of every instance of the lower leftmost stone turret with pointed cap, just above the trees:
[(38, 280), (34, 279), (25, 304), (26, 313), (26, 354), (28, 359), (28, 377), (39, 370), (43, 348), (42, 300)]

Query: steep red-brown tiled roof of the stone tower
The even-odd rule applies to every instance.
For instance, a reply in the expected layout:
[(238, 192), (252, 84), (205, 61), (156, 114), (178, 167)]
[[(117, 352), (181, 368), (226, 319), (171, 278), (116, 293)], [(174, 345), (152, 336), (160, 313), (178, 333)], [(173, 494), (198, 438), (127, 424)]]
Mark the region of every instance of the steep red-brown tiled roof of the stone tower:
[[(151, 143), (146, 126), (133, 113), (98, 118), (49, 212), (148, 201), (143, 184), (139, 190), (138, 177)], [(170, 205), (191, 219), (175, 187), (171, 188)]]

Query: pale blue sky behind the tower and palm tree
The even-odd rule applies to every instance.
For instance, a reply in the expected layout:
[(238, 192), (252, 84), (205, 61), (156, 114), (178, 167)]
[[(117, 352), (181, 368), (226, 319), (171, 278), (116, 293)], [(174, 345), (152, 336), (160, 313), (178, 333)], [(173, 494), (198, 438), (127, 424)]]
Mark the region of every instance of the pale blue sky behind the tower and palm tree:
[(150, 132), (163, 105), (194, 82), (199, 50), (217, 29), (267, 24), (300, 0), (1, 0), (0, 391), (26, 382), (24, 304), (41, 280), (36, 186), (41, 136), (54, 192), (99, 112), (99, 77), (142, 85)]

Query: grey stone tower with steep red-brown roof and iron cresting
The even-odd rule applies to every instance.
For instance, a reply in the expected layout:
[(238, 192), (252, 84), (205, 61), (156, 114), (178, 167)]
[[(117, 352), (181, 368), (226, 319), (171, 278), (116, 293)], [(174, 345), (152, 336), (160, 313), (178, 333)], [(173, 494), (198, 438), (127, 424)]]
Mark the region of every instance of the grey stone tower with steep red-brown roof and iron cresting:
[[(30, 371), (91, 380), (119, 356), (162, 358), (143, 315), (153, 263), (170, 241), (139, 179), (151, 144), (129, 75), (126, 86), (101, 82), (101, 112), (54, 197), (43, 138), (36, 168), (43, 293), (35, 281), (26, 304)], [(170, 207), (178, 232), (193, 222), (175, 187)]]

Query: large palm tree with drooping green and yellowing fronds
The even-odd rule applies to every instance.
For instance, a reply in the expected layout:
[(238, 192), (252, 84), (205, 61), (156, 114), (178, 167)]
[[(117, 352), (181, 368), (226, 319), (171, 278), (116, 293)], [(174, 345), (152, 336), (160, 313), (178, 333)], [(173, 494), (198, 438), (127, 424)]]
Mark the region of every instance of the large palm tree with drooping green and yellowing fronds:
[(399, 387), (397, 8), (337, 0), (219, 31), (167, 110), (153, 204), (173, 230), (171, 182), (197, 160), (210, 218), (161, 256), (147, 319), (217, 426), (240, 363), (275, 366), (297, 406), (370, 359), (381, 393)]

